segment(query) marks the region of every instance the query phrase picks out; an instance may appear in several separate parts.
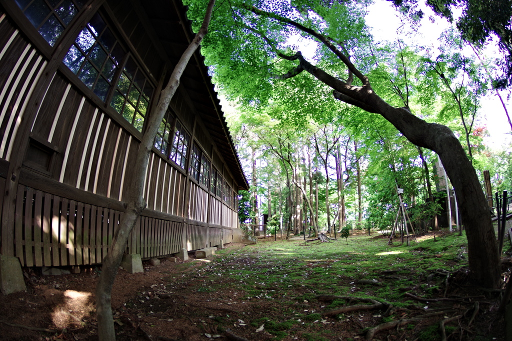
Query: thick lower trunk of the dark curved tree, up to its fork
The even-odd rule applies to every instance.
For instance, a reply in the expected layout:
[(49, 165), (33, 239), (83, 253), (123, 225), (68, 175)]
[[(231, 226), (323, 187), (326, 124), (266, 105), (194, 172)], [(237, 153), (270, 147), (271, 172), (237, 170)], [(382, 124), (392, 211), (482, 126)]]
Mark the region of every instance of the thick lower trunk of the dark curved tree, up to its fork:
[(426, 123), (407, 109), (388, 105), (375, 93), (369, 98), (379, 113), (409, 141), (439, 155), (457, 193), (458, 206), (466, 227), (470, 271), (479, 284), (498, 288), (500, 257), (490, 212), (476, 171), (457, 137), (448, 127)]

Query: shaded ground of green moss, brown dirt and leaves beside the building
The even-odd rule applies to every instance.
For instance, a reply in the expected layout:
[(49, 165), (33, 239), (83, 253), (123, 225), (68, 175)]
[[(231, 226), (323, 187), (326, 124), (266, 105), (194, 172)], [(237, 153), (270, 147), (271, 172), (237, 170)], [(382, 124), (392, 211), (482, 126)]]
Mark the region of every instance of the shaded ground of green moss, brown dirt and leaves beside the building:
[[(121, 270), (113, 290), (117, 340), (505, 340), (503, 290), (468, 280), (464, 235), (436, 231), (434, 239), (431, 231), (407, 247), (363, 232), (328, 243), (232, 243), (207, 259), (190, 253), (185, 262), (144, 262), (143, 273)], [(510, 258), (503, 259), (506, 278)], [(27, 292), (0, 301), (0, 339), (96, 340), (101, 268), (81, 270), (24, 269)]]

